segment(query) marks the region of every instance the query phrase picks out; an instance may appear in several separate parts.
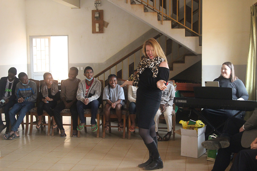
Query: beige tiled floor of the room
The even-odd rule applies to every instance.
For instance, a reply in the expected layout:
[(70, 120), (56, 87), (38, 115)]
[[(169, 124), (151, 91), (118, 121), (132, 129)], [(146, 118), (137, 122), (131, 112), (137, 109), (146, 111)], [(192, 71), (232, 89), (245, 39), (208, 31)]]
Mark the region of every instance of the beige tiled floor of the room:
[[(68, 117), (67, 117), (68, 118)], [(69, 122), (69, 121), (65, 121)], [(117, 124), (117, 123), (116, 123)], [(180, 124), (176, 129), (180, 129)], [(65, 127), (66, 138), (61, 138), (55, 130), (54, 136), (33, 127), (32, 135), (24, 135), (19, 128), (20, 138), (4, 140), (0, 133), (0, 170), (71, 170), (71, 171), (139, 171), (138, 164), (148, 159), (148, 150), (136, 130), (131, 140), (122, 139), (122, 132), (112, 129), (106, 138), (96, 138), (96, 132), (81, 132), (81, 137), (70, 137), (70, 127)], [(165, 132), (159, 132), (164, 136)], [(209, 171), (214, 162), (206, 160), (204, 154), (198, 159), (180, 156), (181, 136), (176, 140), (159, 142), (158, 149), (164, 168), (158, 171)], [(229, 166), (230, 167), (230, 166)], [(228, 167), (228, 170), (229, 170)]]

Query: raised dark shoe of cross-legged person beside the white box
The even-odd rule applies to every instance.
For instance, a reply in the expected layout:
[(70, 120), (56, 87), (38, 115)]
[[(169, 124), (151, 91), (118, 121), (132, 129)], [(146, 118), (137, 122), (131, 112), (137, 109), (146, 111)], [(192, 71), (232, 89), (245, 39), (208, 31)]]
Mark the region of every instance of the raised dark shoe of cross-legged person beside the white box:
[(217, 150), (220, 148), (227, 148), (229, 146), (230, 138), (219, 136), (217, 138), (213, 138), (211, 140), (204, 141), (202, 143), (203, 148), (208, 150)]

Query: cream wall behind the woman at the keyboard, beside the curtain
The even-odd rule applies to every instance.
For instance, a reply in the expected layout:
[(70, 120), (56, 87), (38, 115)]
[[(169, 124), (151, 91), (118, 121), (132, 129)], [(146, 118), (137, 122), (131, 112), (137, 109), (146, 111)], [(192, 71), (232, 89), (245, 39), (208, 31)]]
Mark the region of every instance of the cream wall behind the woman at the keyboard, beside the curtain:
[(217, 78), (226, 61), (245, 81), (252, 4), (253, 0), (203, 0), (202, 82)]

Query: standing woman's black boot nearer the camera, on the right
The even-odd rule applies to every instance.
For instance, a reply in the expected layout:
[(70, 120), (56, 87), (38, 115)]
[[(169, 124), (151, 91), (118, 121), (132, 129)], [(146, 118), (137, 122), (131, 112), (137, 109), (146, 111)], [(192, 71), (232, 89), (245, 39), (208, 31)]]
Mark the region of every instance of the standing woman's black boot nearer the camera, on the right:
[(162, 159), (160, 157), (157, 145), (155, 141), (153, 141), (150, 144), (145, 144), (146, 147), (148, 148), (149, 152), (151, 153), (151, 156), (153, 158), (153, 161), (151, 164), (143, 167), (144, 170), (155, 170), (155, 169), (162, 169), (163, 168), (163, 163)]

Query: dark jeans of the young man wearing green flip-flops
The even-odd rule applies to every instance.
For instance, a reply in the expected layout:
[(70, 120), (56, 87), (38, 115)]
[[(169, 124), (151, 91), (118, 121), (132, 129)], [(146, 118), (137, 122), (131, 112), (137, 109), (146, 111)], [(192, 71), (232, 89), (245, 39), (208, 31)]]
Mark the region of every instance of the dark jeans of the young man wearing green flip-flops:
[(101, 103), (98, 100), (93, 100), (92, 102), (85, 105), (82, 101), (77, 102), (77, 110), (79, 113), (79, 118), (81, 123), (86, 123), (84, 117), (84, 109), (91, 109), (91, 121), (90, 124), (95, 124), (95, 118), (97, 115), (97, 110), (100, 107)]

